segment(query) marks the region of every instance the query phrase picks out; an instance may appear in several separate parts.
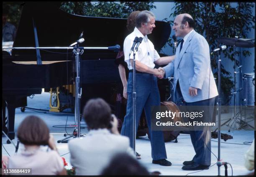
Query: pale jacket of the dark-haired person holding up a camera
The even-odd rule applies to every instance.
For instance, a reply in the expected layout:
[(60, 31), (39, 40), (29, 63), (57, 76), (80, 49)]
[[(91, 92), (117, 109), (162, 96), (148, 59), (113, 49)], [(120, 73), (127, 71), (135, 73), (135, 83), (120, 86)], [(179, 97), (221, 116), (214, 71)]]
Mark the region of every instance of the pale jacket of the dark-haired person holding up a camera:
[(107, 129), (90, 130), (87, 137), (72, 139), (68, 145), (76, 175), (100, 175), (117, 153), (127, 152), (135, 158), (128, 137)]

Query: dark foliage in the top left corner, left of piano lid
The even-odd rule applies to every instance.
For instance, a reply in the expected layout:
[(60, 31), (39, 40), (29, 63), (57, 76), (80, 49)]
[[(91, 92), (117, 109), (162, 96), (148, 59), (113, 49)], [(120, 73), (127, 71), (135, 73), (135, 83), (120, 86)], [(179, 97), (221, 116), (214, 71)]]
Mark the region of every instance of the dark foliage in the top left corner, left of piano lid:
[(18, 27), (23, 2), (3, 2), (3, 10), (8, 11), (7, 21)]

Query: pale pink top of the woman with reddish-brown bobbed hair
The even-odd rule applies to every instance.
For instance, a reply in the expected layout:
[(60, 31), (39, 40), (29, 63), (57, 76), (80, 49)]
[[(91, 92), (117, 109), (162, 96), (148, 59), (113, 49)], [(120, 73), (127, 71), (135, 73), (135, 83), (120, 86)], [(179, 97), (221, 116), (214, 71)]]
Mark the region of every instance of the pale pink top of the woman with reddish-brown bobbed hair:
[(32, 175), (56, 175), (64, 169), (64, 162), (56, 151), (34, 149), (10, 157), (8, 168), (31, 168)]

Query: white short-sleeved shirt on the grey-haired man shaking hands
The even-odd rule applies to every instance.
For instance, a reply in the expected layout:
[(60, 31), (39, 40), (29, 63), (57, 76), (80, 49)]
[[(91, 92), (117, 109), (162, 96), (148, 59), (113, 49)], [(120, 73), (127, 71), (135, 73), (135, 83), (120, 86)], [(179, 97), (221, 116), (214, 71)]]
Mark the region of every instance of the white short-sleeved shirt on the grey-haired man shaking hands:
[(133, 66), (129, 61), (129, 59), (133, 59), (133, 53), (131, 53), (130, 57), (129, 57), (129, 54), (131, 51), (131, 47), (133, 45), (133, 40), (136, 36), (138, 38), (142, 37), (143, 40), (140, 46), (138, 47), (138, 52), (135, 54), (135, 59), (145, 64), (149, 68), (154, 68), (155, 67), (154, 61), (157, 61), (160, 58), (160, 56), (155, 50), (153, 43), (148, 39), (147, 35), (144, 36), (138, 30), (138, 28), (135, 27), (133, 32), (125, 38), (123, 43), (125, 62), (127, 63), (129, 70), (133, 69)]

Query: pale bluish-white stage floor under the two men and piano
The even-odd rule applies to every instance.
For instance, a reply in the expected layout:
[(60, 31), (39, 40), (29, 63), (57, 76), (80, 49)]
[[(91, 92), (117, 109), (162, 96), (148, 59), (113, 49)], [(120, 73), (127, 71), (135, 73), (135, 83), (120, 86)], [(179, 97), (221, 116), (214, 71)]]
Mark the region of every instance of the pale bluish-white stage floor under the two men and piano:
[[(49, 93), (42, 93), (39, 95), (33, 96), (33, 99), (28, 98), (28, 107), (36, 108), (36, 109), (44, 109), (49, 110)], [(72, 133), (74, 130), (73, 125), (74, 124), (74, 116), (67, 114), (59, 114), (59, 113), (49, 113), (47, 111), (33, 111), (30, 109), (26, 109), (25, 112), (21, 112), (19, 108), (16, 109), (15, 114), (15, 132), (17, 132), (18, 125), (20, 122), (28, 115), (36, 115), (44, 119), (46, 121), (46, 124), (49, 126), (51, 134), (54, 135), (54, 139), (56, 141), (57, 148), (59, 150), (60, 155), (62, 157), (65, 157), (68, 166), (66, 166), (67, 169), (71, 168), (70, 164), (70, 154), (69, 149), (66, 143), (57, 143), (58, 140), (64, 138), (65, 128), (64, 125), (66, 124), (69, 128), (67, 128), (68, 133)], [(232, 113), (230, 114), (222, 114), (221, 119), (227, 119), (229, 117), (232, 117)], [(253, 116), (254, 117), (254, 116)], [(223, 120), (224, 122), (224, 120)], [(81, 122), (81, 133), (86, 134), (87, 128), (84, 121)], [(253, 130), (231, 130), (228, 131), (221, 131), (221, 133), (226, 133), (233, 136), (233, 139), (229, 139), (226, 142), (221, 140), (221, 159), (223, 162), (229, 162), (233, 167), (233, 175), (246, 175), (250, 173), (245, 167), (244, 167), (244, 153), (249, 148), (249, 145), (243, 144), (244, 142), (252, 142), (254, 139), (254, 131)], [(86, 137), (84, 137), (86, 138)], [(17, 143), (17, 138), (13, 140), (13, 142)], [(7, 155), (7, 152), (10, 154), (10, 156), (14, 155), (15, 147), (13, 144), (7, 144), (6, 143), (7, 138), (5, 136), (2, 136), (2, 154)], [(215, 164), (217, 162), (218, 157), (218, 139), (212, 139), (212, 157), (211, 157), (211, 165), (210, 169), (203, 170), (203, 171), (184, 171), (182, 170), (182, 162), (185, 160), (191, 160), (193, 156), (195, 155), (194, 149), (192, 147), (192, 143), (190, 140), (189, 135), (179, 135), (178, 136), (178, 143), (174, 142), (166, 142), (166, 152), (167, 152), (167, 158), (169, 161), (172, 162), (171, 167), (163, 167), (157, 164), (152, 164), (151, 159), (151, 146), (150, 141), (145, 137), (141, 137), (136, 140), (136, 151), (141, 154), (141, 159), (138, 160), (143, 164), (149, 172), (153, 171), (159, 171), (161, 172), (161, 175), (192, 175), (192, 176), (215, 176), (218, 175), (218, 167)], [(251, 143), (250, 143), (251, 144)], [(5, 149), (6, 151), (5, 151)], [(46, 148), (46, 147), (43, 147)], [(23, 145), (20, 144), (18, 153), (23, 149)], [(216, 157), (215, 157), (216, 156)], [(225, 175), (225, 169), (222, 166), (221, 167), (221, 175)], [(231, 168), (228, 165), (228, 175), (231, 176)]]

